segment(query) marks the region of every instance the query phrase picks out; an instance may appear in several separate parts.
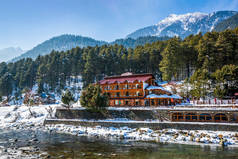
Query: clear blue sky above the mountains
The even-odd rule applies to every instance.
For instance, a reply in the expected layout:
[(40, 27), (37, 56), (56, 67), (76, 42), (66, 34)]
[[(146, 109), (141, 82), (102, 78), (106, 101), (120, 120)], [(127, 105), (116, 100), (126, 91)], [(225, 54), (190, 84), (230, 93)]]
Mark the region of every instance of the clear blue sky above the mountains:
[(0, 49), (61, 34), (113, 41), (169, 14), (238, 11), (238, 0), (1, 0)]

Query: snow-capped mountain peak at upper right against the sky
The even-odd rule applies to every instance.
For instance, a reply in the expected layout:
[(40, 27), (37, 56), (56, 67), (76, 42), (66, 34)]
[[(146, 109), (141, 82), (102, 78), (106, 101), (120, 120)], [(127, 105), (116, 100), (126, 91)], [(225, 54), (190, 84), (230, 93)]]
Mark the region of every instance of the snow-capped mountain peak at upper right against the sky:
[(179, 36), (185, 38), (190, 34), (212, 31), (223, 20), (237, 14), (236, 11), (217, 11), (206, 13), (187, 13), (182, 15), (171, 14), (158, 24), (139, 29), (127, 36), (138, 38), (142, 36)]

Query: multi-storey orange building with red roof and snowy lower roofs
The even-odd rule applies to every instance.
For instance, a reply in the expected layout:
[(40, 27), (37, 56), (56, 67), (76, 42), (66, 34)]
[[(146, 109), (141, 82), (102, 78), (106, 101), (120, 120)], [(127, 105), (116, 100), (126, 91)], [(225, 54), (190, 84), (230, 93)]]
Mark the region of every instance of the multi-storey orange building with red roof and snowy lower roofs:
[(167, 106), (181, 103), (182, 99), (159, 86), (150, 73), (109, 76), (99, 84), (102, 93), (108, 94), (110, 106)]

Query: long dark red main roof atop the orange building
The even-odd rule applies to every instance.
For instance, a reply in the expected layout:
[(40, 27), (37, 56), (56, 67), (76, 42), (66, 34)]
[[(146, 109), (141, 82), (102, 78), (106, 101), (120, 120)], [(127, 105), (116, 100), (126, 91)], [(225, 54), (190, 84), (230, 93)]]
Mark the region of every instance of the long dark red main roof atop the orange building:
[(131, 73), (124, 73), (120, 76), (108, 76), (105, 77), (103, 80), (99, 81), (100, 84), (112, 84), (112, 83), (132, 83), (134, 81), (142, 81), (145, 82), (150, 78), (154, 78), (153, 74), (145, 73), (145, 74), (131, 74)]

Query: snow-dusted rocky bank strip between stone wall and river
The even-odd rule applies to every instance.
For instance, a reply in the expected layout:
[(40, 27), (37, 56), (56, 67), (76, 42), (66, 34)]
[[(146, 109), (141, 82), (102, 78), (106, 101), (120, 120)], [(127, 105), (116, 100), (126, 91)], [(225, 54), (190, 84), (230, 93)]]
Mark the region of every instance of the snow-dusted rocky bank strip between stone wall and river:
[(226, 131), (197, 131), (129, 127), (82, 127), (71, 125), (47, 125), (46, 129), (59, 133), (77, 136), (105, 137), (110, 139), (126, 139), (133, 141), (154, 141), (180, 144), (226, 145), (238, 147), (238, 133)]

